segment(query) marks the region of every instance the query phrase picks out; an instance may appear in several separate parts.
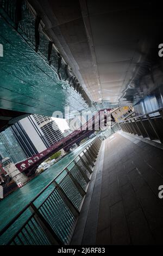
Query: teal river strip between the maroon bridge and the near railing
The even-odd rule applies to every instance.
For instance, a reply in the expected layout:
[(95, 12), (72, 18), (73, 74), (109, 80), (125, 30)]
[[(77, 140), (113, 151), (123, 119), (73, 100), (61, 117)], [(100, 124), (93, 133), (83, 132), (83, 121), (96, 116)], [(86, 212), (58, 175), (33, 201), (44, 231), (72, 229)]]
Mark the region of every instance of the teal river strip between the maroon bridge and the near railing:
[(36, 176), (19, 190), (12, 192), (0, 202), (0, 230), (20, 212), (55, 176), (67, 166), (91, 140), (83, 143), (73, 152), (67, 154), (45, 172)]

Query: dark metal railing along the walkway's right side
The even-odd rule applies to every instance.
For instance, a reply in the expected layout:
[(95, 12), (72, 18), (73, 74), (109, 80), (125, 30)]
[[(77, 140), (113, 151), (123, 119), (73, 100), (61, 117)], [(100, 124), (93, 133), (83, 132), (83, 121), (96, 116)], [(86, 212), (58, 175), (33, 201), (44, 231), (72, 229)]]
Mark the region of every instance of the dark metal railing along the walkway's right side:
[(163, 108), (120, 121), (117, 126), (124, 132), (163, 143)]

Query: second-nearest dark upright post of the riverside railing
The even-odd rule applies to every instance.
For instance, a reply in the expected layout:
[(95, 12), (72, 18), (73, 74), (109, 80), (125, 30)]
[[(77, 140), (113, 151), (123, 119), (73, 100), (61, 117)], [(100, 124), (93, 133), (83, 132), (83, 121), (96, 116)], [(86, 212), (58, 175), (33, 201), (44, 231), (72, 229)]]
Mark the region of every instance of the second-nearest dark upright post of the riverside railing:
[(53, 181), (55, 188), (58, 190), (60, 197), (62, 198), (62, 200), (64, 200), (65, 204), (68, 206), (68, 208), (70, 209), (70, 211), (72, 212), (72, 214), (75, 217), (78, 217), (79, 215), (79, 211), (76, 208), (76, 206), (74, 206), (74, 204), (71, 202), (71, 200), (67, 197), (66, 193), (64, 192), (64, 190), (62, 190), (62, 188), (58, 185), (58, 183), (54, 180)]

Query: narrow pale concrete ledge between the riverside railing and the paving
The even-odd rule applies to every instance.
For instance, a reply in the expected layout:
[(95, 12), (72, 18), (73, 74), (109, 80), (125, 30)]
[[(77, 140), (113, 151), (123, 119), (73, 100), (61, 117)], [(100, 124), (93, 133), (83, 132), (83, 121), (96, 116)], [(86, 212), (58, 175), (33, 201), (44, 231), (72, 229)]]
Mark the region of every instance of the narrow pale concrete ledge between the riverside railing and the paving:
[[(97, 228), (97, 221), (98, 221), (97, 209), (99, 207), (100, 192), (101, 192), (104, 149), (105, 149), (105, 141), (102, 142), (101, 148), (98, 153), (95, 168), (93, 170), (89, 187), (87, 188), (86, 196), (82, 205), (82, 209), (78, 217), (76, 228), (74, 229), (74, 233), (71, 239), (71, 243), (70, 243), (71, 245), (95, 244), (96, 242), (96, 228)], [(96, 195), (96, 198), (93, 197), (94, 195)], [(97, 211), (92, 215), (93, 206), (96, 206)], [(91, 220), (89, 217), (91, 217)], [(91, 225), (92, 232), (90, 230), (90, 225)], [(87, 240), (87, 235), (89, 235), (89, 240)]]

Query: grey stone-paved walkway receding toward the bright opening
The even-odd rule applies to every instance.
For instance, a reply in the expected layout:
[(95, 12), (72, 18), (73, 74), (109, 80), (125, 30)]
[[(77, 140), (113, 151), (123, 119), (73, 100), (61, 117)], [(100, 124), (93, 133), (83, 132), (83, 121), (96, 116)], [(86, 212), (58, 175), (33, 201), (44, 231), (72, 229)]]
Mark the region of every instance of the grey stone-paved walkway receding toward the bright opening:
[(89, 206), (86, 199), (83, 209), (87, 211), (79, 217), (83, 228), (79, 230), (77, 224), (72, 244), (163, 243), (163, 199), (158, 197), (163, 151), (118, 133), (106, 139), (103, 148), (104, 161)]

